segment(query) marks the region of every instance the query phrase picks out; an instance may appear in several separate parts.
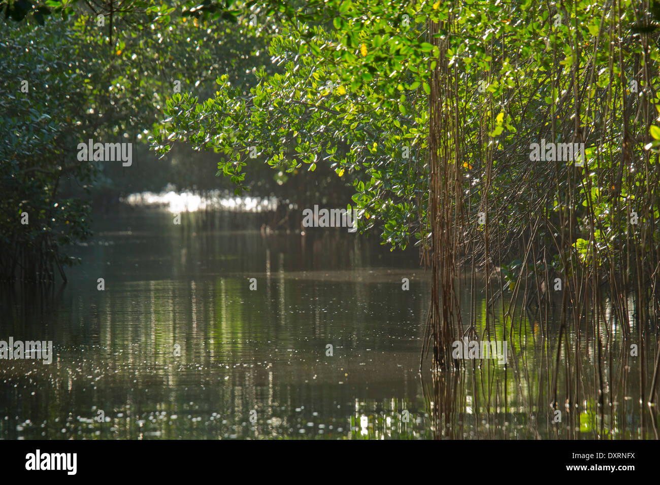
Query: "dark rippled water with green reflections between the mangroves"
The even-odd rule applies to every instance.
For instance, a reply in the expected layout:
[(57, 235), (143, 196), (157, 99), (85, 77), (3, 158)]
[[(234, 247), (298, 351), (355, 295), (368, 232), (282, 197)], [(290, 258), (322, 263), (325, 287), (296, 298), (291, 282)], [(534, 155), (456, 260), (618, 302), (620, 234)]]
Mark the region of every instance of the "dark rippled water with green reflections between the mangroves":
[[(184, 213), (176, 226), (164, 210), (96, 214), (67, 284), (3, 286), (0, 339), (52, 340), (55, 358), (0, 360), (0, 436), (656, 437), (657, 410), (640, 403), (651, 332), (640, 357), (616, 323), (603, 335), (601, 406), (593, 335), (562, 347), (554, 422), (558, 325), (515, 319), (506, 370), (469, 361), (422, 379), (430, 285), (416, 249), (338, 228), (266, 235), (261, 217)], [(485, 313), (479, 297), (480, 335)], [(502, 339), (501, 319), (492, 331)]]

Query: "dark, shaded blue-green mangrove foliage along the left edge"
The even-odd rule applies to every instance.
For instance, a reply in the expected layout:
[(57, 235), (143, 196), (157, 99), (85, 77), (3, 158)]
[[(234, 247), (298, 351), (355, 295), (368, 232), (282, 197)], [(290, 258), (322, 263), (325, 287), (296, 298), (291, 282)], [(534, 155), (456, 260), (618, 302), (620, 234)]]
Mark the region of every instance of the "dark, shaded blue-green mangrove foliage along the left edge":
[(7, 86), (0, 100), (1, 273), (49, 278), (53, 267), (71, 262), (59, 247), (88, 234), (88, 208), (58, 190), (62, 178), (85, 184), (92, 176), (92, 166), (71, 156), (84, 94), (70, 86), (82, 86), (84, 75), (71, 69), (75, 51), (61, 49), (62, 42), (73, 44), (63, 24), (0, 32), (0, 48), (7, 54), (0, 57)]

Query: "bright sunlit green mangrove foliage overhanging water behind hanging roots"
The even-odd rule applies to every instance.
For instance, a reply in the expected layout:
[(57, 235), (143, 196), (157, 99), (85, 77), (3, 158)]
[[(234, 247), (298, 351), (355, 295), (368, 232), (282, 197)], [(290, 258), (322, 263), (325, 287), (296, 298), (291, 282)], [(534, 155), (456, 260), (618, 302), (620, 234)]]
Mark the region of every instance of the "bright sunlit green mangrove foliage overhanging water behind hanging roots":
[[(621, 238), (635, 230), (626, 221), (636, 212), (647, 236), (643, 249), (657, 250), (650, 237), (657, 199), (637, 202), (651, 200), (657, 180), (644, 150), (659, 101), (652, 88), (657, 34), (644, 28), (653, 24), (644, 5), (323, 5), (312, 10), (314, 22), (282, 22), (269, 49), (284, 71), (259, 72), (249, 96), (219, 77), (216, 96), (205, 102), (186, 94), (168, 100), (158, 149), (185, 139), (220, 150), (228, 157), (220, 173), (239, 186), (250, 146), (280, 169), (330, 164), (352, 177), (361, 228), (380, 222), (383, 238), (403, 246), (412, 236), (424, 239), (428, 73), (441, 57), (433, 43), (440, 39), (455, 96), (444, 103), (460, 120), (448, 158), (462, 166), (461, 218), (475, 220), (490, 193), (497, 207), (486, 212), (504, 250), (536, 216), (555, 229), (568, 226), (571, 209), (579, 236), (571, 243), (587, 261), (591, 245), (603, 258), (609, 252), (620, 259), (628, 249)], [(426, 38), (429, 21), (442, 24), (436, 39)], [(530, 145), (541, 139), (585, 143), (587, 168), (572, 160), (531, 162)], [(544, 234), (540, 242), (556, 245), (560, 231)]]

